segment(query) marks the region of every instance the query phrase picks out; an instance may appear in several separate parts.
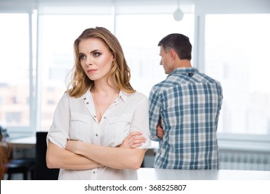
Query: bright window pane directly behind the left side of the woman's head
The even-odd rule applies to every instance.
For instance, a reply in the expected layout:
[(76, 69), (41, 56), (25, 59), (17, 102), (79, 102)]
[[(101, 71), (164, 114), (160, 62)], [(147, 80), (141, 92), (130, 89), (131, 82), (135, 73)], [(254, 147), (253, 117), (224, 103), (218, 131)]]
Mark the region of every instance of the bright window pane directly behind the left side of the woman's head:
[(42, 15), (40, 21), (42, 114), (39, 130), (46, 131), (53, 121), (55, 107), (66, 91), (66, 76), (74, 61), (74, 40), (84, 29), (96, 26), (105, 27), (113, 33), (114, 19), (110, 15)]

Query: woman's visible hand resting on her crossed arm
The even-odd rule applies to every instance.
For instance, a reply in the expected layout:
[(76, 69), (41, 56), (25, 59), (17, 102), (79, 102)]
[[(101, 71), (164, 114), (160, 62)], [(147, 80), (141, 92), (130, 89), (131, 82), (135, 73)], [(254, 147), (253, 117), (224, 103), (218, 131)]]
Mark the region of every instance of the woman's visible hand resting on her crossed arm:
[(145, 137), (141, 136), (142, 132), (131, 132), (123, 141), (119, 148), (138, 148), (145, 143)]

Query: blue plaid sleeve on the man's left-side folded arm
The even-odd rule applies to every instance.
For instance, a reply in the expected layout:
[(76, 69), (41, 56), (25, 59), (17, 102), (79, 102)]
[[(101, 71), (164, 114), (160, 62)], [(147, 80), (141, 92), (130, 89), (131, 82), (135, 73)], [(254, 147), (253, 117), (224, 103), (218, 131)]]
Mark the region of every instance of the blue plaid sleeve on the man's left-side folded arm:
[(161, 139), (156, 136), (156, 126), (159, 124), (161, 100), (159, 92), (156, 91), (155, 87), (152, 87), (149, 95), (149, 123), (150, 123), (150, 138), (153, 141), (161, 141)]

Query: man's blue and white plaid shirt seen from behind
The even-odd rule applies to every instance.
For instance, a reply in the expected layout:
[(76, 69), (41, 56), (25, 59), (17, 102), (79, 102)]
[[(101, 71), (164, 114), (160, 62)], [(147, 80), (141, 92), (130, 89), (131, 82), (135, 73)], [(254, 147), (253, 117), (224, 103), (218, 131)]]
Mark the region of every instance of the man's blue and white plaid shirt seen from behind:
[[(218, 169), (217, 122), (222, 86), (194, 68), (179, 68), (150, 91), (154, 168)], [(162, 121), (163, 139), (156, 136)]]

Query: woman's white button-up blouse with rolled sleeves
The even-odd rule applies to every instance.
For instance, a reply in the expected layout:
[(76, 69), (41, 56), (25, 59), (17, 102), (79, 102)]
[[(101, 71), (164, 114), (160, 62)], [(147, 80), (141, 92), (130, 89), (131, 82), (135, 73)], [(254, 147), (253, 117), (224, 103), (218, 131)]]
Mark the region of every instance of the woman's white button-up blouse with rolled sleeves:
[[(50, 140), (61, 148), (66, 147), (67, 139), (116, 147), (130, 132), (138, 131), (143, 132), (147, 139), (139, 148), (150, 148), (149, 106), (144, 94), (120, 91), (98, 123), (93, 98), (88, 90), (80, 98), (73, 98), (67, 93), (62, 96), (55, 109), (47, 142)], [(107, 166), (93, 170), (60, 169), (58, 179), (137, 179), (137, 173), (136, 170)]]

